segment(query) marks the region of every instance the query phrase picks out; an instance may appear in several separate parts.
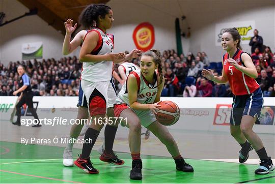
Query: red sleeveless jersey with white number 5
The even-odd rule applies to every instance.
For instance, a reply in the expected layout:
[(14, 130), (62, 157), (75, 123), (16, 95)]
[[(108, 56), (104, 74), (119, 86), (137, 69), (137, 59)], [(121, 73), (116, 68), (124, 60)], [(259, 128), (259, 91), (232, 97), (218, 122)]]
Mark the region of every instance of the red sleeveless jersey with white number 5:
[[(237, 50), (232, 57), (239, 65), (244, 66), (241, 60), (241, 54), (244, 53), (242, 50)], [(250, 95), (256, 89), (259, 88), (259, 84), (256, 80), (243, 72), (236, 69), (233, 65), (227, 62), (229, 54), (226, 53), (223, 56), (224, 72), (227, 75), (229, 85), (234, 95)], [(245, 67), (245, 66), (244, 66)]]

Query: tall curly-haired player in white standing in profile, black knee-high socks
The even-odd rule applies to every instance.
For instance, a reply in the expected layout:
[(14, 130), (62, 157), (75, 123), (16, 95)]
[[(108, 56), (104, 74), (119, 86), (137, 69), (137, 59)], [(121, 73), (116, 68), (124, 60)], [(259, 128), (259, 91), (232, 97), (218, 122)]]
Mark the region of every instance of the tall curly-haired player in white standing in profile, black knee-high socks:
[[(92, 27), (84, 38), (79, 59), (83, 62), (81, 86), (87, 98), (89, 122), (92, 122), (85, 134), (82, 153), (74, 164), (84, 171), (97, 174), (90, 161), (90, 154), (100, 130), (105, 127), (105, 150), (100, 160), (117, 165), (124, 164), (113, 151), (113, 144), (118, 124), (110, 123), (114, 117), (114, 104), (117, 97), (112, 79), (114, 62), (120, 63), (139, 56), (140, 50), (134, 49), (125, 53), (113, 53), (114, 42), (106, 34), (106, 29), (112, 27), (114, 18), (110, 7), (99, 4), (89, 5), (81, 12), (79, 22), (84, 28)], [(95, 27), (93, 27), (96, 25)], [(110, 82), (111, 81), (111, 82)], [(107, 113), (107, 120), (105, 114)], [(106, 122), (107, 121), (107, 122)]]

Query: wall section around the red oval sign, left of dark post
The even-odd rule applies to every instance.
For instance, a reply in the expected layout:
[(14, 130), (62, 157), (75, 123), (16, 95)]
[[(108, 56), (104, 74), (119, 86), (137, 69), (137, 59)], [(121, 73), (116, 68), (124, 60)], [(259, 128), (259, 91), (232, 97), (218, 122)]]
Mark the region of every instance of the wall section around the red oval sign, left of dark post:
[[(150, 22), (155, 30), (153, 48), (161, 51), (176, 50), (175, 16), (161, 14), (158, 10), (144, 6), (138, 1), (110, 1), (107, 3), (114, 12), (114, 25), (108, 30), (115, 35), (115, 51), (135, 48), (132, 34), (134, 28), (142, 22)], [(183, 50), (188, 49), (188, 41), (182, 40)]]

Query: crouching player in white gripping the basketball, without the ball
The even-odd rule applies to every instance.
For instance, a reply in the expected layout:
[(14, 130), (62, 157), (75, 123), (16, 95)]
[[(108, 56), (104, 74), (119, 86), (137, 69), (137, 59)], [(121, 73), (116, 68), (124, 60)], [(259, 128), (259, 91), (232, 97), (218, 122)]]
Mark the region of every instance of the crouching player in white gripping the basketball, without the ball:
[(117, 104), (114, 106), (115, 116), (127, 119), (127, 122), (124, 123), (130, 129), (131, 179), (142, 179), (141, 125), (166, 145), (175, 159), (177, 170), (194, 172), (193, 167), (185, 163), (181, 157), (177, 143), (168, 129), (156, 120), (155, 114), (160, 107), (160, 94), (163, 85), (160, 52), (149, 50), (142, 54), (140, 69), (131, 72), (128, 76), (117, 98)]

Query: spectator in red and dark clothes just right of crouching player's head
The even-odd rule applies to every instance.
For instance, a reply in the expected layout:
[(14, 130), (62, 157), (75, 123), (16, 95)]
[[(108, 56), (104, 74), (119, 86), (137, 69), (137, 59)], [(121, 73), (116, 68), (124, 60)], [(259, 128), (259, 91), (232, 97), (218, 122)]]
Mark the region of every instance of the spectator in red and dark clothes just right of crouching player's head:
[(166, 75), (164, 75), (165, 82), (163, 88), (169, 89), (169, 96), (175, 97), (179, 90), (179, 80), (177, 76), (172, 72), (172, 69), (166, 69)]

